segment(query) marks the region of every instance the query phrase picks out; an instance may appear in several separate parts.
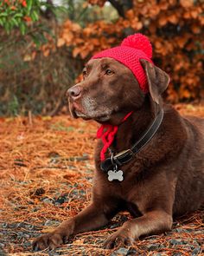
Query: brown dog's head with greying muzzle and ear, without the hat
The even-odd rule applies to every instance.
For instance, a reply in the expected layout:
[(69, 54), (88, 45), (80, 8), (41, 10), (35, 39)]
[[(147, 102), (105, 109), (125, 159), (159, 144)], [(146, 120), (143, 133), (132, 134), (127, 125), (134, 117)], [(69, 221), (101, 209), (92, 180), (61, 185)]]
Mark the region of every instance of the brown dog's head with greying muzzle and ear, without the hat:
[(159, 104), (168, 87), (169, 75), (154, 64), (140, 61), (145, 71), (149, 93), (140, 89), (135, 75), (124, 64), (109, 58), (91, 59), (83, 70), (84, 80), (67, 91), (73, 117), (99, 122), (111, 121), (141, 108), (146, 96)]

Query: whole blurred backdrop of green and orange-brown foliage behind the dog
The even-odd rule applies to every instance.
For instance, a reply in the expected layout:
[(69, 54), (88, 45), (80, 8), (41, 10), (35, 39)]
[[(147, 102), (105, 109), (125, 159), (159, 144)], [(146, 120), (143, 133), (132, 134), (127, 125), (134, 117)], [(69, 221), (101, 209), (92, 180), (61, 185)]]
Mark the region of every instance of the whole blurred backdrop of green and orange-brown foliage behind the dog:
[(166, 100), (201, 101), (203, 10), (202, 0), (0, 0), (0, 115), (67, 111), (84, 63), (135, 32), (171, 76)]

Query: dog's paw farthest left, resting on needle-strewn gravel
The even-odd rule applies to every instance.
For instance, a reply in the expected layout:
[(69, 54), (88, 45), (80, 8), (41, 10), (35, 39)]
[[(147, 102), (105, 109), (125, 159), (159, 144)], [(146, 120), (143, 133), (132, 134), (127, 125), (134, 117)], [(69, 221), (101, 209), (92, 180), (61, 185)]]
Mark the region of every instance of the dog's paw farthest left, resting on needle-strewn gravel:
[(53, 250), (65, 242), (65, 237), (61, 233), (46, 233), (35, 239), (33, 242), (33, 250), (35, 252), (44, 249)]

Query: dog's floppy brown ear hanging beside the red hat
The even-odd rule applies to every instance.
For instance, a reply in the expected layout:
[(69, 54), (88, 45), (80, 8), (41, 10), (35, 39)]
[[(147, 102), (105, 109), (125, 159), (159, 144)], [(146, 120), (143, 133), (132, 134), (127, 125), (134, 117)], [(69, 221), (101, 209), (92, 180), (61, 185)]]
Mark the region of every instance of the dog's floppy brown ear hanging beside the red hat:
[(154, 102), (159, 104), (159, 97), (163, 94), (165, 89), (169, 85), (169, 75), (162, 69), (157, 68), (151, 62), (144, 59), (140, 60), (143, 69), (147, 75), (147, 81), (149, 85), (150, 95)]

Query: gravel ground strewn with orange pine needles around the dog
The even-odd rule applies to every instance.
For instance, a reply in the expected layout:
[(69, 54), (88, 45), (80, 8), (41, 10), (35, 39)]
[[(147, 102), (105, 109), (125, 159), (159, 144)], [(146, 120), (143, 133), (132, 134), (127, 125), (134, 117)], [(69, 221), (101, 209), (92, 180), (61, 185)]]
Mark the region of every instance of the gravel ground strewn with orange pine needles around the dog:
[[(176, 105), (204, 117), (204, 106)], [(31, 252), (31, 242), (72, 217), (91, 200), (92, 153), (98, 124), (69, 116), (0, 118), (0, 255), (203, 255), (203, 211), (175, 220), (173, 230), (104, 250), (107, 236), (129, 213), (108, 226), (71, 238), (54, 252)]]

